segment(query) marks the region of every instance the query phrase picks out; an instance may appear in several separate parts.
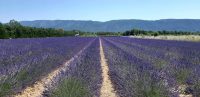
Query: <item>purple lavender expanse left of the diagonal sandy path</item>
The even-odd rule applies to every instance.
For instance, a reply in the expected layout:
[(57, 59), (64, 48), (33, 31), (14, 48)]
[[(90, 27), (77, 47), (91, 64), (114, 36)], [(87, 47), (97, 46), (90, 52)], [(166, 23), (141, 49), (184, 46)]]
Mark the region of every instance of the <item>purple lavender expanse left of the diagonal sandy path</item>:
[(73, 57), (93, 38), (0, 40), (0, 95), (21, 91)]

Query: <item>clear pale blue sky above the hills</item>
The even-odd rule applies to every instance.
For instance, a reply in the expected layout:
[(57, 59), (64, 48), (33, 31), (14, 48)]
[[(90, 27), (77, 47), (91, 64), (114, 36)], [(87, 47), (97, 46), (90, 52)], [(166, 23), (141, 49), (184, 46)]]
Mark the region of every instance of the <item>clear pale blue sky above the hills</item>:
[(200, 19), (200, 0), (0, 0), (0, 21)]

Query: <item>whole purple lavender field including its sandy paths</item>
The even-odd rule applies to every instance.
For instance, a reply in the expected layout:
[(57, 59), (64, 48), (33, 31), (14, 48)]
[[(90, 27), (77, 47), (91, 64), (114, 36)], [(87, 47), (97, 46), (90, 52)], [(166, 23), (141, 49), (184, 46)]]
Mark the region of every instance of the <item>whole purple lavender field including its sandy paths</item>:
[(0, 97), (200, 97), (200, 42), (0, 40)]

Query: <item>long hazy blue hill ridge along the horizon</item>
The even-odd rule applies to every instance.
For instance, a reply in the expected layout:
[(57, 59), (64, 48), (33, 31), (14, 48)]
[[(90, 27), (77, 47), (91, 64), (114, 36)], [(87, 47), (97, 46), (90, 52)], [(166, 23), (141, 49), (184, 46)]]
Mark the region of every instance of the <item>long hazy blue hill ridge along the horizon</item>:
[(112, 20), (107, 22), (79, 20), (36, 20), (21, 21), (24, 26), (62, 28), (88, 32), (123, 32), (130, 29), (167, 30), (167, 31), (200, 31), (200, 19), (163, 19), (163, 20)]

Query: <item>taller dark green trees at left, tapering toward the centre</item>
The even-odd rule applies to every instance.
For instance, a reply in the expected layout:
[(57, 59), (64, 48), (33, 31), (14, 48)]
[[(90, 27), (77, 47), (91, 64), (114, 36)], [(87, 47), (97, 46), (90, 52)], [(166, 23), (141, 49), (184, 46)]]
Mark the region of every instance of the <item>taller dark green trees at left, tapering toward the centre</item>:
[(63, 29), (25, 27), (19, 22), (11, 20), (9, 23), (0, 23), (0, 39), (33, 38), (33, 37), (61, 37), (83, 34), (79, 31), (64, 31)]

